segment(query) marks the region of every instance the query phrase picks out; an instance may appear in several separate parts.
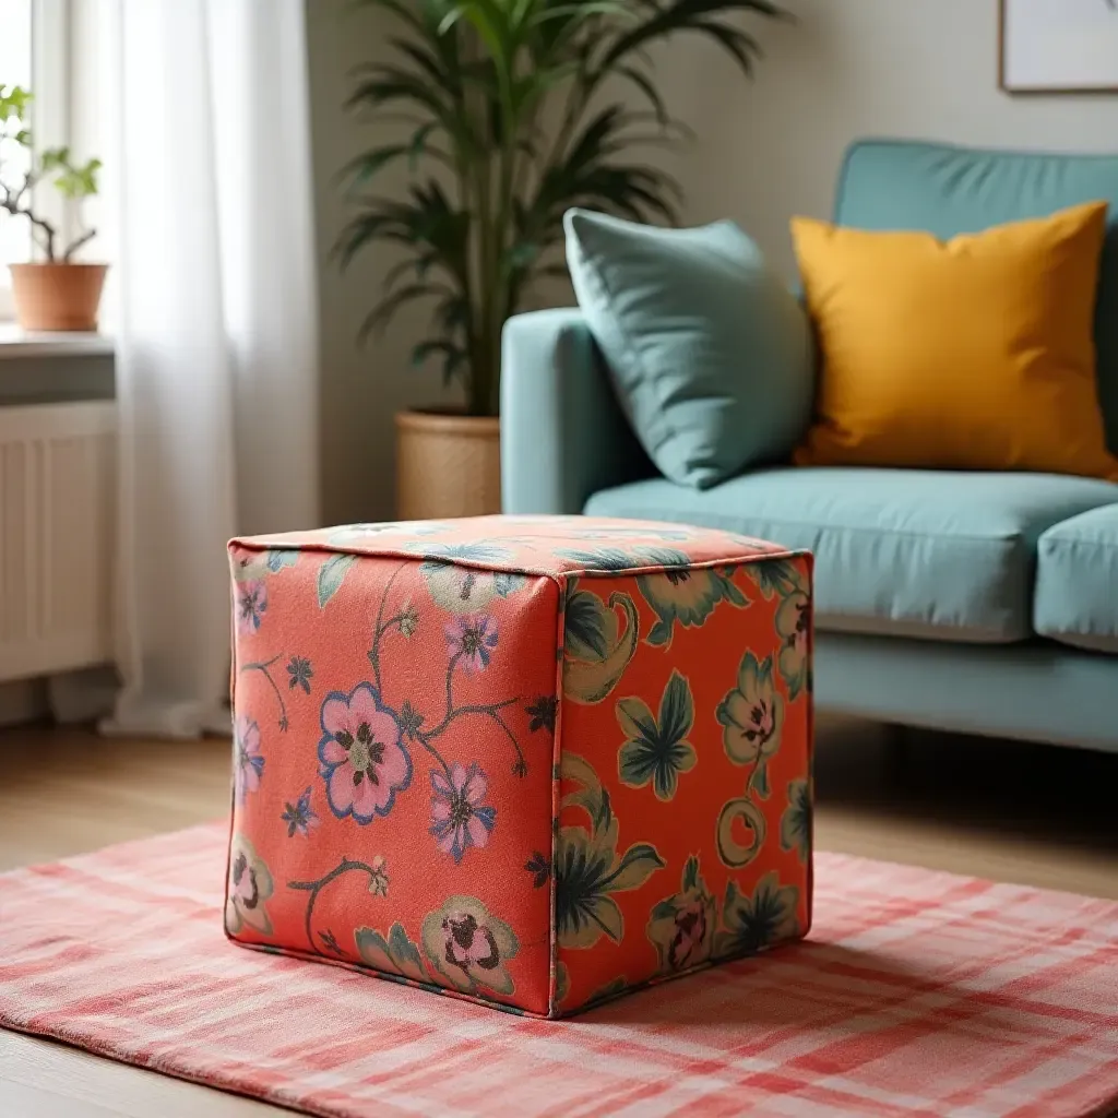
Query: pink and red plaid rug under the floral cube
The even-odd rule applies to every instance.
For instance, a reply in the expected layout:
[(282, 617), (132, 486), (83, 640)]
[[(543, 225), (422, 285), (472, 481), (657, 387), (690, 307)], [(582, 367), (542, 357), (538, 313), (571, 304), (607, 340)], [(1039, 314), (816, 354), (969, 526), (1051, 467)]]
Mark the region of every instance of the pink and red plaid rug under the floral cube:
[(1118, 1103), (1118, 903), (819, 854), (811, 941), (548, 1022), (234, 947), (226, 835), (0, 877), (0, 1024), (347, 1118)]

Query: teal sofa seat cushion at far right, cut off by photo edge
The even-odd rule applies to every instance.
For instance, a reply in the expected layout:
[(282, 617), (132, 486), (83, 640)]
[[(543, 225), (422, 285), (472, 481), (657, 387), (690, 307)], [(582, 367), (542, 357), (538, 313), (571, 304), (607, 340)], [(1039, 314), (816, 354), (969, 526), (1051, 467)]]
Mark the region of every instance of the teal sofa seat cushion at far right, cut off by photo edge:
[(1118, 654), (1118, 504), (1050, 528), (1036, 560), (1036, 632)]

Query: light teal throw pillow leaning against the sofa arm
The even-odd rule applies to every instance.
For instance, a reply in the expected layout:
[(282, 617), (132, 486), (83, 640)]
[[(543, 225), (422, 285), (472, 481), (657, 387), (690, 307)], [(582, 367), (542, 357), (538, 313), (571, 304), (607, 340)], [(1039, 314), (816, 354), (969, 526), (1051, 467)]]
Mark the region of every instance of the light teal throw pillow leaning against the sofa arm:
[(812, 334), (752, 240), (581, 209), (565, 226), (579, 307), (660, 472), (709, 489), (786, 459), (811, 421)]

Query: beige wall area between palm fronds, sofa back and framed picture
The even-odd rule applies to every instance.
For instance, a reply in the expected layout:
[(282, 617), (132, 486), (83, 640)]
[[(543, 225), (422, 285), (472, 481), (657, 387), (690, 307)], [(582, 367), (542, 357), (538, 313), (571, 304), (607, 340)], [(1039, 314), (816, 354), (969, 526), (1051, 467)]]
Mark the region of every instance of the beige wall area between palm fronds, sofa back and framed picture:
[(797, 22), (760, 26), (766, 57), (751, 85), (680, 51), (665, 86), (686, 120), (707, 122), (681, 172), (689, 219), (733, 217), (786, 273), (788, 218), (830, 215), (858, 136), (1118, 151), (1118, 96), (998, 91), (997, 0), (785, 3)]

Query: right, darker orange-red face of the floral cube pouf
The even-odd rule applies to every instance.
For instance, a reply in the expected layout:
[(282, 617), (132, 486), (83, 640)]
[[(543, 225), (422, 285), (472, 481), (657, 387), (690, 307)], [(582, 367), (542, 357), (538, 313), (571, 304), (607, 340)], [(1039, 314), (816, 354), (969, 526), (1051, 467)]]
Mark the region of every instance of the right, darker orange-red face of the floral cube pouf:
[(572, 580), (559, 1013), (806, 932), (811, 579), (799, 555)]

